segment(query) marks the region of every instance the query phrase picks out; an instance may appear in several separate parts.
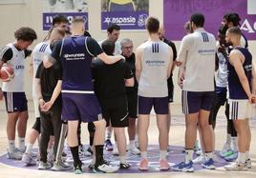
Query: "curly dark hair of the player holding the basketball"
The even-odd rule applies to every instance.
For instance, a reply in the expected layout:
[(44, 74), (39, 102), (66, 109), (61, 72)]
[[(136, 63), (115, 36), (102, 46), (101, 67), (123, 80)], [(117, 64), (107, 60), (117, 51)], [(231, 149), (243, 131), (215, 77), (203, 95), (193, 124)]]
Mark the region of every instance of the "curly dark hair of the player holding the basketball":
[(37, 39), (36, 32), (32, 28), (23, 27), (15, 30), (14, 36), (17, 40), (33, 41)]

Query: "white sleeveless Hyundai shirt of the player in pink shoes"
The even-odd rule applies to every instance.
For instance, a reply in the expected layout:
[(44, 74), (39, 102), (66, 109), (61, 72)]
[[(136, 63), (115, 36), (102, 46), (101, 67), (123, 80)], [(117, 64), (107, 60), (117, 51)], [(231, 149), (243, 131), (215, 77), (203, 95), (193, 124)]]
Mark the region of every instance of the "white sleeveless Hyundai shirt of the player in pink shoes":
[(169, 46), (162, 41), (146, 41), (139, 48), (142, 49), (139, 96), (168, 96)]

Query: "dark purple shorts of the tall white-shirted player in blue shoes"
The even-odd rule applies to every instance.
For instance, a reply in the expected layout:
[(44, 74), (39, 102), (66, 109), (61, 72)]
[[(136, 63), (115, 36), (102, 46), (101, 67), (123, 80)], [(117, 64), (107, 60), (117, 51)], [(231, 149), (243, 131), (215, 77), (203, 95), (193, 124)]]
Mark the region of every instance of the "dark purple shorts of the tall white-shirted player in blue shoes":
[(181, 103), (184, 114), (197, 113), (201, 109), (211, 110), (214, 91), (194, 92), (182, 90)]

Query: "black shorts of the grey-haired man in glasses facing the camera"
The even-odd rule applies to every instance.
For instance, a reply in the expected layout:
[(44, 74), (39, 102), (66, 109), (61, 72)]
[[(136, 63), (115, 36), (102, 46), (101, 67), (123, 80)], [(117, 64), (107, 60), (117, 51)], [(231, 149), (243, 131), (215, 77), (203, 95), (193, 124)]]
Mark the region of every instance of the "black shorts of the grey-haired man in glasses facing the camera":
[(128, 117), (138, 117), (138, 92), (127, 92)]

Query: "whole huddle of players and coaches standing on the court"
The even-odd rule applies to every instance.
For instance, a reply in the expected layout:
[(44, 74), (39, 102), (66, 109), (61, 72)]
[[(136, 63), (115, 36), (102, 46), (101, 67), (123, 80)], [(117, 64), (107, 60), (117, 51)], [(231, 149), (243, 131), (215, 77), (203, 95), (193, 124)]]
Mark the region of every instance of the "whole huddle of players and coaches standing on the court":
[[(8, 111), (8, 158), (22, 160), (27, 166), (36, 165), (37, 154), (32, 152), (32, 147), (39, 139), (38, 169), (74, 168), (75, 173), (80, 174), (85, 169), (80, 157), (92, 156), (89, 168), (95, 172), (116, 172), (119, 168), (130, 167), (126, 161), (128, 148), (132, 154), (140, 154), (139, 170), (148, 170), (147, 131), (154, 107), (160, 131), (160, 170), (169, 169), (166, 159), (169, 103), (173, 101), (172, 72), (178, 66), (186, 126), (185, 158), (172, 169), (191, 172), (193, 165), (199, 163), (203, 168), (215, 168), (213, 129), (218, 110), (224, 104), (227, 137), (220, 155), (234, 161), (224, 168), (251, 168), (248, 119), (255, 108), (256, 73), (239, 21), (237, 13), (224, 15), (216, 48), (214, 35), (203, 30), (203, 14), (194, 13), (178, 54), (175, 45), (164, 38), (164, 29), (155, 17), (147, 19), (148, 40), (135, 53), (131, 39), (117, 41), (120, 30), (117, 25), (109, 27), (108, 39), (97, 43), (85, 30), (84, 19), (80, 17), (73, 19), (71, 30), (66, 17), (54, 17), (49, 35), (33, 51), (28, 48), (37, 38), (35, 31), (31, 28), (16, 30), (16, 41), (0, 53), (0, 67), (7, 63), (15, 73), (10, 82), (3, 82), (0, 90), (0, 98), (4, 95)], [(25, 147), (29, 116), (24, 70), (25, 59), (31, 54), (36, 119)], [(81, 122), (88, 123), (90, 148), (81, 144)], [(18, 148), (15, 147), (16, 125)], [(128, 147), (125, 128), (128, 128)], [(110, 141), (112, 129), (116, 142), (114, 150)], [(197, 129), (202, 153), (193, 160)], [(74, 167), (65, 162), (66, 138)], [(104, 159), (104, 148), (119, 155), (118, 167)]]

